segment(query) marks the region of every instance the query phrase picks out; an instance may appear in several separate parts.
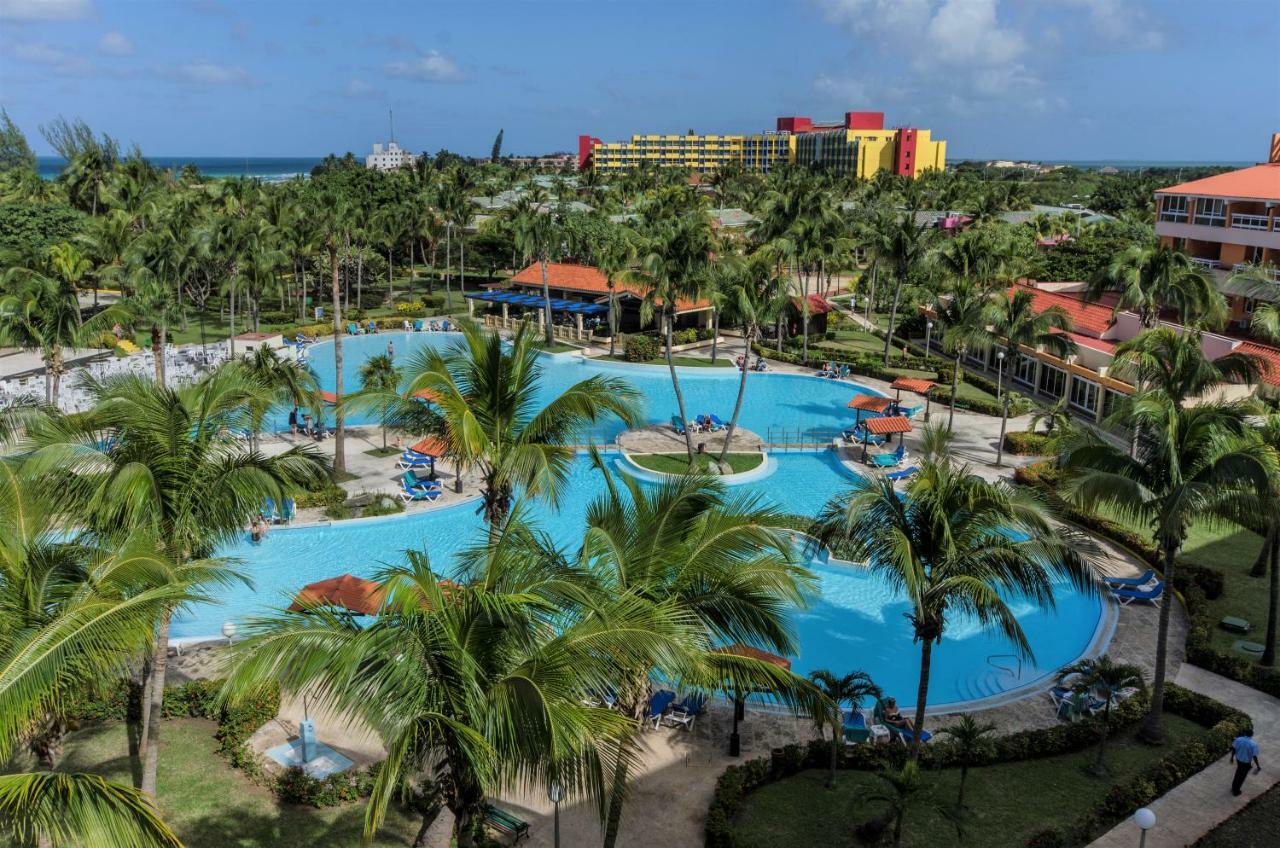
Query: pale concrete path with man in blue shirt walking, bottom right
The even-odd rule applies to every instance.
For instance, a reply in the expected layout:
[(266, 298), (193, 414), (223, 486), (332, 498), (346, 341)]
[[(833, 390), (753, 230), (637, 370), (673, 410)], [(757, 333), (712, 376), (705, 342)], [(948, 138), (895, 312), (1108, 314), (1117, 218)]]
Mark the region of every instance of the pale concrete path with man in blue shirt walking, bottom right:
[[(1147, 848), (1193, 844), (1280, 780), (1280, 767), (1276, 766), (1276, 757), (1280, 756), (1280, 699), (1193, 665), (1184, 664), (1174, 681), (1249, 713), (1253, 719), (1253, 738), (1262, 748), (1258, 757), (1262, 774), (1251, 774), (1244, 781), (1244, 794), (1235, 798), (1231, 795), (1231, 776), (1235, 770), (1229, 757), (1224, 756), (1204, 771), (1174, 787), (1151, 804), (1156, 813), (1156, 826), (1147, 834)], [(1132, 848), (1138, 844), (1138, 826), (1133, 824), (1133, 819), (1126, 819), (1091, 843), (1089, 848)]]

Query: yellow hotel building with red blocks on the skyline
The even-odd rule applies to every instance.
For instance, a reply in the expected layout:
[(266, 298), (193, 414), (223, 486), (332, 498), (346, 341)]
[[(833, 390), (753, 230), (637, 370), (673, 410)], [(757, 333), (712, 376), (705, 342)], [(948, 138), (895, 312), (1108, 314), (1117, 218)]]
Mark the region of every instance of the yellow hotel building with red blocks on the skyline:
[(946, 141), (934, 140), (928, 129), (886, 128), (882, 111), (846, 111), (840, 123), (778, 118), (772, 132), (750, 136), (636, 135), (617, 142), (579, 136), (577, 141), (579, 169), (603, 173), (646, 163), (696, 172), (740, 165), (754, 173), (791, 164), (864, 178), (881, 172), (914, 178), (943, 170), (946, 159)]

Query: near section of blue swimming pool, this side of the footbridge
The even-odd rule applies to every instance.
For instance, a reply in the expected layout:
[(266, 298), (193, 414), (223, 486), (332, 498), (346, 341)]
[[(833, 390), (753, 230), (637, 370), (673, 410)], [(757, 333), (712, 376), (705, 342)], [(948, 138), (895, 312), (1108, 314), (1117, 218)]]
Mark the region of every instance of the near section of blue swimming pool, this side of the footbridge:
[[(772, 474), (736, 488), (735, 494), (753, 492), (788, 512), (813, 515), (852, 479), (829, 451), (778, 453), (774, 460)], [(580, 457), (558, 509), (531, 503), (526, 515), (572, 551), (581, 541), (586, 505), (600, 491), (599, 473)], [(173, 635), (216, 634), (228, 619), (285, 606), (306, 583), (342, 573), (370, 576), (385, 564), (403, 561), (403, 551), (410, 548), (426, 551), (433, 565), (447, 571), (458, 551), (475, 544), (483, 532), (475, 503), (465, 502), (402, 516), (279, 528), (256, 546), (246, 537), (219, 553), (241, 560), (253, 587), (234, 585), (223, 592), (221, 605), (179, 614)], [(831, 669), (845, 674), (860, 669), (900, 703), (910, 705), (919, 675), (919, 647), (902, 617), (905, 602), (861, 567), (828, 562), (824, 556), (809, 566), (819, 578), (820, 592), (792, 616), (800, 644), (795, 671)], [(1033, 661), (1019, 662), (1002, 638), (982, 632), (972, 620), (950, 623), (933, 652), (931, 703), (946, 707), (998, 696), (1082, 656), (1100, 632), (1102, 601), (1068, 584), (1056, 587), (1056, 596), (1057, 607), (1048, 612), (1014, 601), (1034, 651)]]

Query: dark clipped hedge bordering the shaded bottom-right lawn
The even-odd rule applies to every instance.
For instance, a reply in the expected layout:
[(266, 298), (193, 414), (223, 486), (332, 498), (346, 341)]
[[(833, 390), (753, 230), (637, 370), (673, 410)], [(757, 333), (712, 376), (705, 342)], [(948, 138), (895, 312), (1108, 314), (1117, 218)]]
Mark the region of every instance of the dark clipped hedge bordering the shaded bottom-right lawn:
[[(1111, 713), (1112, 733), (1117, 728), (1132, 726), (1140, 721), (1147, 706), (1146, 694), (1134, 696), (1119, 705)], [(1249, 717), (1243, 712), (1174, 684), (1165, 688), (1165, 710), (1207, 726), (1208, 738), (1169, 749), (1133, 780), (1111, 787), (1102, 802), (1091, 813), (1075, 821), (1070, 829), (1042, 831), (1033, 836), (1028, 845), (1046, 848), (1088, 843), (1091, 838), (1103, 833), (1137, 807), (1149, 803), (1219, 760), (1230, 740), (1251, 726)], [(1101, 717), (1091, 717), (1043, 730), (1024, 730), (1001, 737), (986, 754), (970, 765), (989, 766), (1084, 751), (1097, 744), (1101, 721)], [(884, 767), (901, 766), (906, 757), (908, 749), (904, 746), (855, 746), (844, 749), (840, 767), (879, 771)], [(831, 743), (814, 739), (803, 746), (786, 746), (777, 757), (758, 757), (739, 766), (728, 766), (716, 783), (716, 792), (707, 811), (708, 848), (733, 848), (736, 844), (733, 816), (753, 792), (806, 769), (826, 769), (829, 758)], [(938, 769), (956, 767), (960, 763), (950, 746), (940, 744), (922, 748), (920, 765), (925, 769)], [(797, 810), (795, 813), (804, 815), (804, 811)]]

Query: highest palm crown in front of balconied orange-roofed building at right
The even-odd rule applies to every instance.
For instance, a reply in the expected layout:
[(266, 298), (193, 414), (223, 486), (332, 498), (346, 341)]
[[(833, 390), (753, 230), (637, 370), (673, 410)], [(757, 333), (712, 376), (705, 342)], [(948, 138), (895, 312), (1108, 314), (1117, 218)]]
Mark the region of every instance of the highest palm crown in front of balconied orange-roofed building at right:
[(1088, 296), (1117, 293), (1115, 313), (1138, 314), (1143, 329), (1160, 325), (1160, 310), (1172, 309), (1187, 327), (1217, 328), (1226, 320), (1226, 301), (1208, 272), (1165, 245), (1134, 245), (1091, 281)]

